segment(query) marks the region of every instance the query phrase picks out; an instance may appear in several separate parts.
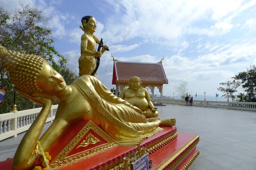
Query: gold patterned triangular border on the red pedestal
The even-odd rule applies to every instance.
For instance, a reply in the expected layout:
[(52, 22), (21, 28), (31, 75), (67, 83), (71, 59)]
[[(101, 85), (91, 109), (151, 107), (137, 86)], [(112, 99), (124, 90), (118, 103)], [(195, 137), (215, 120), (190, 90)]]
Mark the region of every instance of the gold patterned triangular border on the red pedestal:
[[(81, 141), (82, 138), (84, 138), (85, 134), (87, 134), (89, 130), (93, 130), (96, 134), (105, 139), (107, 143), (66, 157), (66, 155), (68, 155), (71, 152), (71, 150), (73, 150), (73, 148), (78, 144), (78, 142)], [(107, 150), (108, 148), (114, 146), (117, 146), (117, 143), (115, 143), (103, 130), (101, 130), (92, 121), (89, 121), (84, 126), (84, 128), (82, 128), (82, 130), (79, 131), (79, 133), (72, 139), (72, 141), (51, 162), (50, 169), (64, 167), (68, 164), (71, 164), (72, 162), (84, 159), (87, 156), (94, 155), (96, 153)]]

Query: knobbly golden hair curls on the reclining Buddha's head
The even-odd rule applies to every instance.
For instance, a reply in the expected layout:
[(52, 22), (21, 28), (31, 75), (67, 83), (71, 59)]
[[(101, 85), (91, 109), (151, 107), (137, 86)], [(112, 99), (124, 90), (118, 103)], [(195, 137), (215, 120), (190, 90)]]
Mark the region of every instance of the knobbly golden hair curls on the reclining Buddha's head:
[(29, 95), (41, 91), (36, 84), (36, 76), (46, 62), (44, 58), (7, 50), (0, 45), (0, 59), (3, 67), (9, 72), (15, 89)]

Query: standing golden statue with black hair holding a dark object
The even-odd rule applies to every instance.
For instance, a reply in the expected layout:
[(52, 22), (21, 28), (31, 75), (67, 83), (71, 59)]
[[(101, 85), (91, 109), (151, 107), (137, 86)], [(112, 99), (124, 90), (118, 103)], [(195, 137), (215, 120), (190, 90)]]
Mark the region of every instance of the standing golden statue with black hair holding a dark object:
[[(107, 50), (108, 47), (103, 45), (101, 51), (96, 51), (97, 43), (100, 45), (100, 40), (93, 35), (96, 31), (96, 20), (94, 17), (87, 15), (81, 19), (84, 34), (81, 37), (81, 56), (78, 60), (79, 63), (79, 76), (93, 75), (97, 77), (94, 70), (96, 68), (95, 57), (101, 57), (102, 54)], [(96, 72), (96, 71), (95, 71)]]

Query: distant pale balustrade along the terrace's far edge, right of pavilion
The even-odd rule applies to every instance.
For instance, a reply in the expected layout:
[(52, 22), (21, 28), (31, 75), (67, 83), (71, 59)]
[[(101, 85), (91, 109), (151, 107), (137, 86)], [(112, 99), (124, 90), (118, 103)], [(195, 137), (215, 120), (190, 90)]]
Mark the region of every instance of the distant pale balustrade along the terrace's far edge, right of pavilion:
[[(160, 103), (160, 99), (155, 98), (155, 102)], [(163, 99), (163, 104), (186, 105), (186, 102), (185, 100), (180, 99)], [(193, 106), (256, 111), (256, 102), (224, 102), (193, 100)]]

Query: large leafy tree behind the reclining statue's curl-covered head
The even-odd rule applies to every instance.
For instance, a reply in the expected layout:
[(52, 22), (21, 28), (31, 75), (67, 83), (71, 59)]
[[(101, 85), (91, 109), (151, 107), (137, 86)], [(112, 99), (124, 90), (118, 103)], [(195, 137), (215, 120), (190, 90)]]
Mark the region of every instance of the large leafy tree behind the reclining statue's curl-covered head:
[[(65, 58), (55, 50), (52, 43), (54, 37), (47, 28), (49, 18), (38, 8), (22, 5), (12, 12), (0, 7), (0, 44), (7, 49), (19, 51), (25, 54), (42, 56), (60, 72), (60, 67), (54, 62), (54, 56)], [(4, 101), (0, 103), (0, 113), (8, 113), (13, 105), (13, 87), (9, 74), (0, 63), (0, 88), (6, 91)], [(33, 108), (33, 103), (16, 95), (17, 110)], [(36, 105), (38, 107), (38, 105)]]

